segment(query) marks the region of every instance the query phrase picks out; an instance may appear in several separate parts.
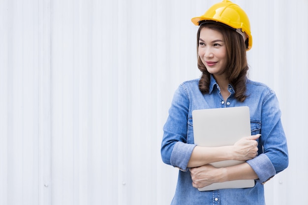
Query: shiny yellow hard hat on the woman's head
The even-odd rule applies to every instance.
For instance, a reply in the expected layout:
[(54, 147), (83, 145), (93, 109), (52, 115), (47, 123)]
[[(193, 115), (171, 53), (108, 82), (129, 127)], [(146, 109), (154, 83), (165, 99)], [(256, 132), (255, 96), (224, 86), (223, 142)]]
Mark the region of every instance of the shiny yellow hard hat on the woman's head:
[(200, 26), (200, 23), (206, 21), (220, 22), (235, 29), (243, 35), (243, 37), (245, 32), (248, 38), (246, 50), (248, 51), (252, 47), (252, 36), (248, 16), (240, 6), (232, 3), (230, 0), (223, 0), (222, 2), (214, 4), (205, 14), (192, 18), (191, 21), (196, 26)]

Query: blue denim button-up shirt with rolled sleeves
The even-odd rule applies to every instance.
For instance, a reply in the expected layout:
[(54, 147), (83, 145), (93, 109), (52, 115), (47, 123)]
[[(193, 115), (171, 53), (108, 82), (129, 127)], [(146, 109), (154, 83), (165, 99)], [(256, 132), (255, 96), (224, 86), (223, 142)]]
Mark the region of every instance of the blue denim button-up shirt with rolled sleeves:
[[(199, 79), (186, 81), (176, 90), (169, 116), (163, 127), (161, 156), (164, 163), (180, 169), (178, 183), (171, 205), (265, 205), (263, 183), (288, 166), (288, 151), (285, 134), (280, 120), (276, 94), (262, 83), (247, 79), (244, 102), (234, 97), (229, 85), (230, 96), (226, 101), (220, 88), (211, 76), (210, 92), (202, 94)], [(261, 134), (258, 156), (246, 161), (259, 179), (255, 186), (244, 189), (220, 189), (200, 192), (192, 186), (187, 169), (194, 145), (192, 111), (198, 109), (248, 106), (251, 135)], [(219, 129), (219, 127), (217, 127)]]

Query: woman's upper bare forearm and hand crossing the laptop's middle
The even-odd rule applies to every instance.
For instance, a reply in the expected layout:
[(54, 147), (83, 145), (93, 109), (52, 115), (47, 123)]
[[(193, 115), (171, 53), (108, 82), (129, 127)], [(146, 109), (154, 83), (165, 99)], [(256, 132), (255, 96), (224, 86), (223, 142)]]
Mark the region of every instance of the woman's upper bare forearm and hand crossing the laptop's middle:
[(233, 146), (203, 147), (195, 146), (187, 167), (200, 167), (212, 162), (224, 160), (247, 161), (257, 155), (260, 135), (244, 137)]

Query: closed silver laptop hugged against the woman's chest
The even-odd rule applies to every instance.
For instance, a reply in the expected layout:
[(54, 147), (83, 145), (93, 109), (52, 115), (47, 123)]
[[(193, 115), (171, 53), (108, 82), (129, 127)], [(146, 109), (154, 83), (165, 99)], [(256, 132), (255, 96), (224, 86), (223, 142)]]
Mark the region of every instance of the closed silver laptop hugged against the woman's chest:
[[(229, 146), (243, 137), (251, 135), (249, 108), (232, 107), (192, 111), (194, 143), (198, 146)], [(228, 160), (211, 163), (213, 166), (228, 167), (243, 161)], [(200, 188), (209, 191), (228, 188), (248, 188), (254, 186), (254, 180), (235, 180), (214, 183)]]

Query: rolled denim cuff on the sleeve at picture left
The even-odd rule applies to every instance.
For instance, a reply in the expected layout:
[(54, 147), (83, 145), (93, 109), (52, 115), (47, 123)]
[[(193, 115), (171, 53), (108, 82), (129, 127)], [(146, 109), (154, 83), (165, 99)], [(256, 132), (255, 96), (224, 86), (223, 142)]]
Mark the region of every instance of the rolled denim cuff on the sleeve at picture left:
[(170, 163), (172, 166), (179, 168), (183, 172), (187, 172), (187, 164), (190, 159), (192, 150), (196, 145), (177, 142), (173, 147)]

